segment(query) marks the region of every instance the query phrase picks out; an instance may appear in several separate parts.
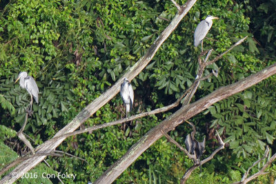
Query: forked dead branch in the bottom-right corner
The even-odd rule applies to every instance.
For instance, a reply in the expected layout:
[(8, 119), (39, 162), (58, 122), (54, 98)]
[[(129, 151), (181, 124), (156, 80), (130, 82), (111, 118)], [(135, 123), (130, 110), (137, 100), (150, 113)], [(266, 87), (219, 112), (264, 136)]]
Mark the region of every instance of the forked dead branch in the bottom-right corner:
[(266, 162), (266, 164), (264, 165), (264, 167), (262, 167), (261, 170), (259, 170), (259, 172), (253, 174), (252, 176), (248, 176), (248, 173), (249, 171), (251, 170), (252, 167), (254, 167), (255, 165), (257, 165), (260, 161), (266, 159), (268, 157), (268, 152), (269, 152), (269, 148), (266, 147), (266, 151), (264, 152), (264, 157), (262, 159), (259, 159), (258, 161), (256, 161), (255, 163), (253, 163), (253, 165), (251, 165), (248, 170), (246, 171), (246, 173), (244, 174), (244, 176), (242, 177), (242, 180), (239, 181), (239, 182), (235, 182), (233, 184), (245, 184), (245, 183), (248, 183), (249, 181), (252, 181), (253, 179), (261, 176), (261, 175), (264, 175), (264, 174), (268, 174), (268, 172), (264, 172), (266, 170), (266, 167), (268, 167), (271, 163), (273, 163), (273, 161), (275, 161), (276, 159), (276, 154), (273, 154), (273, 156), (268, 159), (268, 161)]

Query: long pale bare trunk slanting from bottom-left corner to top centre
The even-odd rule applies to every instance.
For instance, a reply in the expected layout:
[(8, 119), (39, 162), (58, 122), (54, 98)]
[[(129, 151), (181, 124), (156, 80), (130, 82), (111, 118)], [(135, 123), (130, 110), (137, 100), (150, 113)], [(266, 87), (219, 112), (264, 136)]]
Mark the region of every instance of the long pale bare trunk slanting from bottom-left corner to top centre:
[[(183, 17), (188, 13), (190, 8), (193, 7), (197, 0), (188, 0), (185, 4), (185, 8), (182, 7), (181, 12), (177, 13), (175, 18), (172, 19), (170, 25), (159, 35), (159, 37), (155, 40), (155, 42), (152, 44), (152, 46), (148, 49), (148, 52), (144, 55), (144, 57), (141, 57), (135, 65), (133, 65), (131, 68), (129, 68), (124, 76), (121, 77), (121, 79), (118, 79), (117, 83), (113, 85), (109, 90), (107, 90), (105, 93), (101, 94), (99, 98), (95, 99), (92, 103), (90, 103), (86, 108), (81, 110), (79, 114), (73, 119), (68, 125), (63, 127), (55, 136), (60, 136), (62, 134), (66, 134), (69, 132), (74, 132), (84, 121), (86, 121), (92, 114), (97, 112), (99, 108), (101, 108), (103, 105), (108, 103), (118, 92), (120, 89), (120, 85), (122, 81), (124, 80), (124, 77), (127, 77), (130, 81), (137, 76), (143, 70), (146, 65), (151, 61), (151, 59), (155, 56), (155, 53), (159, 49), (162, 43), (170, 36), (173, 30), (177, 28), (177, 25), (183, 19)], [(39, 147), (37, 147), (37, 152), (52, 152), (55, 150), (55, 148), (64, 141), (65, 138), (59, 139), (58, 141), (46, 141)], [(7, 176), (4, 176), (0, 183), (13, 183), (14, 181), (17, 181), (18, 178), (23, 176), (26, 172), (32, 169), (32, 167), (36, 166), (38, 163), (43, 161), (43, 159), (46, 156), (36, 156), (33, 159), (28, 159), (26, 161), (23, 161), (20, 165), (18, 165), (12, 172), (17, 172), (17, 177), (12, 178), (11, 174), (8, 174)]]

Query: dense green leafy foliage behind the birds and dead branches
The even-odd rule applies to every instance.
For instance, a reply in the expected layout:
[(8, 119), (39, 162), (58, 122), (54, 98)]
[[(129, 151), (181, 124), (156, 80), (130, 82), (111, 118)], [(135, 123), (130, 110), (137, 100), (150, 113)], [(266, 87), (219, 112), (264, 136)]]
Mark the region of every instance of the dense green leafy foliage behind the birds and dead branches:
[[(135, 105), (131, 113), (164, 107), (193, 83), (201, 50), (193, 46), (193, 32), (208, 14), (219, 17), (204, 39), (204, 50), (214, 49), (211, 59), (242, 37), (249, 37), (246, 43), (206, 69), (204, 75), (220, 68), (219, 76), (201, 81), (193, 101), (273, 63), (274, 3), (197, 1), (150, 64), (132, 80)], [(146, 53), (176, 13), (171, 1), (10, 1), (1, 7), (0, 141), (7, 145), (12, 142), (26, 115), (30, 96), (14, 84), (20, 71), (33, 76), (39, 87), (39, 104), (34, 103), (34, 114), (24, 130), (36, 146), (54, 136), (81, 109), (110, 88)], [(188, 183), (239, 181), (263, 154), (265, 145), (275, 148), (275, 79), (270, 77), (220, 101), (191, 120), (197, 125), (197, 139), (203, 136), (212, 139), (206, 129), (214, 129), (226, 138), (230, 147), (203, 165), (201, 173), (195, 170)], [(49, 156), (47, 161), (53, 169), (40, 164), (31, 172), (56, 174), (53, 171), (56, 170), (77, 174), (75, 181), (65, 178), (65, 183), (95, 181), (141, 136), (173, 112), (133, 121), (128, 129), (132, 130), (131, 137), (120, 126), (72, 136), (57, 149), (79, 156), (87, 163), (68, 156)], [(117, 95), (81, 128), (115, 121), (124, 115), (124, 105)], [(190, 127), (181, 125), (170, 135), (184, 145), (188, 132)], [(215, 150), (213, 143), (213, 140), (207, 141), (204, 156)], [(3, 143), (1, 147), (0, 150), (12, 152)], [(5, 163), (15, 158), (9, 152), (1, 154), (9, 158)], [(193, 161), (163, 138), (139, 156), (115, 183), (177, 183), (191, 165)], [(258, 169), (254, 167), (253, 172)], [(275, 178), (275, 165), (268, 170), (271, 181)], [(58, 182), (38, 179), (25, 178), (19, 182)], [(259, 178), (259, 181), (268, 179)]]

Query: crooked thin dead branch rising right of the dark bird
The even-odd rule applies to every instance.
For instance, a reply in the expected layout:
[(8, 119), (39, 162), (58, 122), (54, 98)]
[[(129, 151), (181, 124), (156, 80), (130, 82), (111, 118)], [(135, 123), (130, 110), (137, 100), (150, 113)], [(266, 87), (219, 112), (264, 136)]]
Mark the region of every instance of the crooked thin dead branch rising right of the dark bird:
[(184, 176), (182, 176), (180, 183), (184, 184), (186, 183), (186, 181), (188, 180), (188, 178), (190, 177), (190, 174), (192, 174), (192, 172), (199, 167), (200, 165), (204, 165), (204, 163), (212, 160), (215, 156), (215, 154), (217, 154), (217, 152), (219, 152), (220, 150), (224, 149), (224, 141), (222, 141), (221, 137), (219, 136), (219, 133), (217, 133), (217, 136), (219, 138), (219, 147), (217, 147), (217, 150), (215, 150), (212, 154), (210, 154), (210, 156), (208, 156), (208, 158), (204, 159), (203, 161), (201, 161), (200, 163), (197, 163), (195, 165), (193, 165), (192, 167), (190, 167), (186, 173), (184, 174)]

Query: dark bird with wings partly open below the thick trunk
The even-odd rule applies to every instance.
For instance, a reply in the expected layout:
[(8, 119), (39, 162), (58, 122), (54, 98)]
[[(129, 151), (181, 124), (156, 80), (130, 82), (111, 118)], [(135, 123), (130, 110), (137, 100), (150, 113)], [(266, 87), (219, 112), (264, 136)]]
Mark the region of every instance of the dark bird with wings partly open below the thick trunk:
[[(188, 122), (188, 121), (186, 121)], [(193, 132), (188, 134), (185, 139), (186, 149), (190, 154), (195, 154), (196, 162), (200, 164), (200, 157), (205, 152), (205, 137), (204, 141), (201, 143), (195, 139), (195, 125), (193, 123), (188, 122), (190, 125), (193, 126)]]

